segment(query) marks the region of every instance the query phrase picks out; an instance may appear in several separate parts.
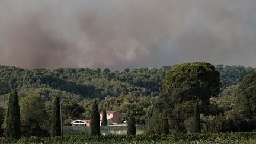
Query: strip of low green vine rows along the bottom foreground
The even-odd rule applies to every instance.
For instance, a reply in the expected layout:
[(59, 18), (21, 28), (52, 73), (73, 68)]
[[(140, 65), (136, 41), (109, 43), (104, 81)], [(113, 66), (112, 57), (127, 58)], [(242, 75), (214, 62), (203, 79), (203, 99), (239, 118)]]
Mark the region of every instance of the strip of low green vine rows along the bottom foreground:
[[(1, 143), (11, 143), (1, 139)], [(60, 137), (23, 137), (17, 143), (61, 143)], [(63, 143), (256, 143), (256, 132), (172, 133), (170, 135), (101, 135), (65, 134)]]

